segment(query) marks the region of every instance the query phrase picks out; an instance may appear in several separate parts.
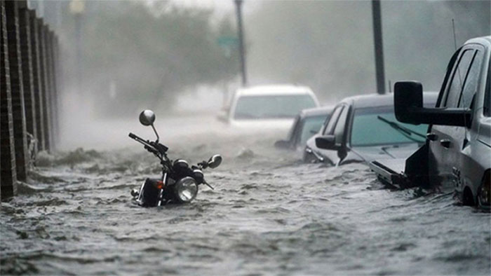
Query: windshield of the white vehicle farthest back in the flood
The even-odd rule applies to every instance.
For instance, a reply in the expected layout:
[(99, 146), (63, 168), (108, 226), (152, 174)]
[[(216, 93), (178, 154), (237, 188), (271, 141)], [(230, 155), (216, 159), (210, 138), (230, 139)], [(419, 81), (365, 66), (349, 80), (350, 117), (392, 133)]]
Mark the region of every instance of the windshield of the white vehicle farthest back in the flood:
[(243, 96), (238, 98), (234, 118), (293, 118), (300, 110), (315, 106), (309, 95)]

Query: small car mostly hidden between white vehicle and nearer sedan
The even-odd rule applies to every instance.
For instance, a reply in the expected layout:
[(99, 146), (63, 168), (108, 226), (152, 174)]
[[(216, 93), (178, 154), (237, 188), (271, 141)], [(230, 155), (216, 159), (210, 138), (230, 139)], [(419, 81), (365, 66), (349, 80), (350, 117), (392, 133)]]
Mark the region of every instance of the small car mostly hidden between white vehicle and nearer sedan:
[(287, 139), (276, 141), (274, 146), (280, 149), (304, 149), (307, 140), (329, 121), (332, 109), (332, 106), (322, 106), (300, 111), (290, 127)]

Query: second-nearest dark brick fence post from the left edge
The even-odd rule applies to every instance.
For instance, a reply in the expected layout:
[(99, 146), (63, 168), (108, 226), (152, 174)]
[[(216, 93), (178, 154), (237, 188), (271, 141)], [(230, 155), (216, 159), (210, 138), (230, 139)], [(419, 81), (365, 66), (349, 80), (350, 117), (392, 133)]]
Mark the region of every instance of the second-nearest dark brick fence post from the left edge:
[(24, 88), (22, 83), (22, 57), (20, 55), (19, 8), (20, 1), (6, 1), (8, 64), (11, 74), (13, 136), (17, 179), (27, 179), (27, 134), (25, 125)]

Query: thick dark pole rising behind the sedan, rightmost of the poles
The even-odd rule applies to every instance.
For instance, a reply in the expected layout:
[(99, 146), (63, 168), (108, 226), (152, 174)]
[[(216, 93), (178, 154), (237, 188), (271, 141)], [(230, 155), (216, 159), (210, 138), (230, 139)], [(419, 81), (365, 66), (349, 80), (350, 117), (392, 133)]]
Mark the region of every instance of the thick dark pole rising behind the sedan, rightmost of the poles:
[(372, 0), (373, 45), (375, 46), (375, 74), (377, 75), (377, 93), (385, 93), (384, 43), (382, 41), (382, 18), (380, 0)]

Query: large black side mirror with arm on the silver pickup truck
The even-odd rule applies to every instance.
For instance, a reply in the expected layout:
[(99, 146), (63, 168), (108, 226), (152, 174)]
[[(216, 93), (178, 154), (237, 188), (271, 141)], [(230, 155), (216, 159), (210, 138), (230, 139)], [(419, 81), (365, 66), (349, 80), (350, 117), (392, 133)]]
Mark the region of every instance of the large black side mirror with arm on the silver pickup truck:
[(469, 127), (470, 109), (424, 108), (423, 85), (417, 81), (399, 81), (394, 85), (394, 112), (402, 123)]

